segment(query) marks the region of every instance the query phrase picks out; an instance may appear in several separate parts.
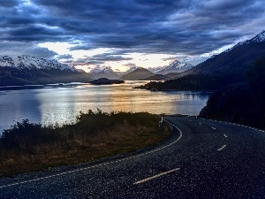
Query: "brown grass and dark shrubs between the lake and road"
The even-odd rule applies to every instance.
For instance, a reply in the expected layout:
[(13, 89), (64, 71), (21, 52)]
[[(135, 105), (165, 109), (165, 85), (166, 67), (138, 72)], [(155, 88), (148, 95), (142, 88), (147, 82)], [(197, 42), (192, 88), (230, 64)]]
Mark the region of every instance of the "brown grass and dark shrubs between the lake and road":
[(0, 138), (0, 176), (74, 165), (133, 152), (168, 138), (170, 127), (147, 112), (80, 112), (75, 124), (42, 126), (27, 119)]

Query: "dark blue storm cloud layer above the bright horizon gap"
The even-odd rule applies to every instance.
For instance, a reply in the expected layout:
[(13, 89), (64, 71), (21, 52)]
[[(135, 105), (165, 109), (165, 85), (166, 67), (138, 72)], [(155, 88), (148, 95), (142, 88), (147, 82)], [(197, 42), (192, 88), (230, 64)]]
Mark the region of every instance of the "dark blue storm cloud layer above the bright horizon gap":
[(77, 43), (70, 50), (117, 48), (124, 54), (193, 56), (254, 36), (265, 27), (264, 0), (30, 2), (1, 2), (0, 40)]

